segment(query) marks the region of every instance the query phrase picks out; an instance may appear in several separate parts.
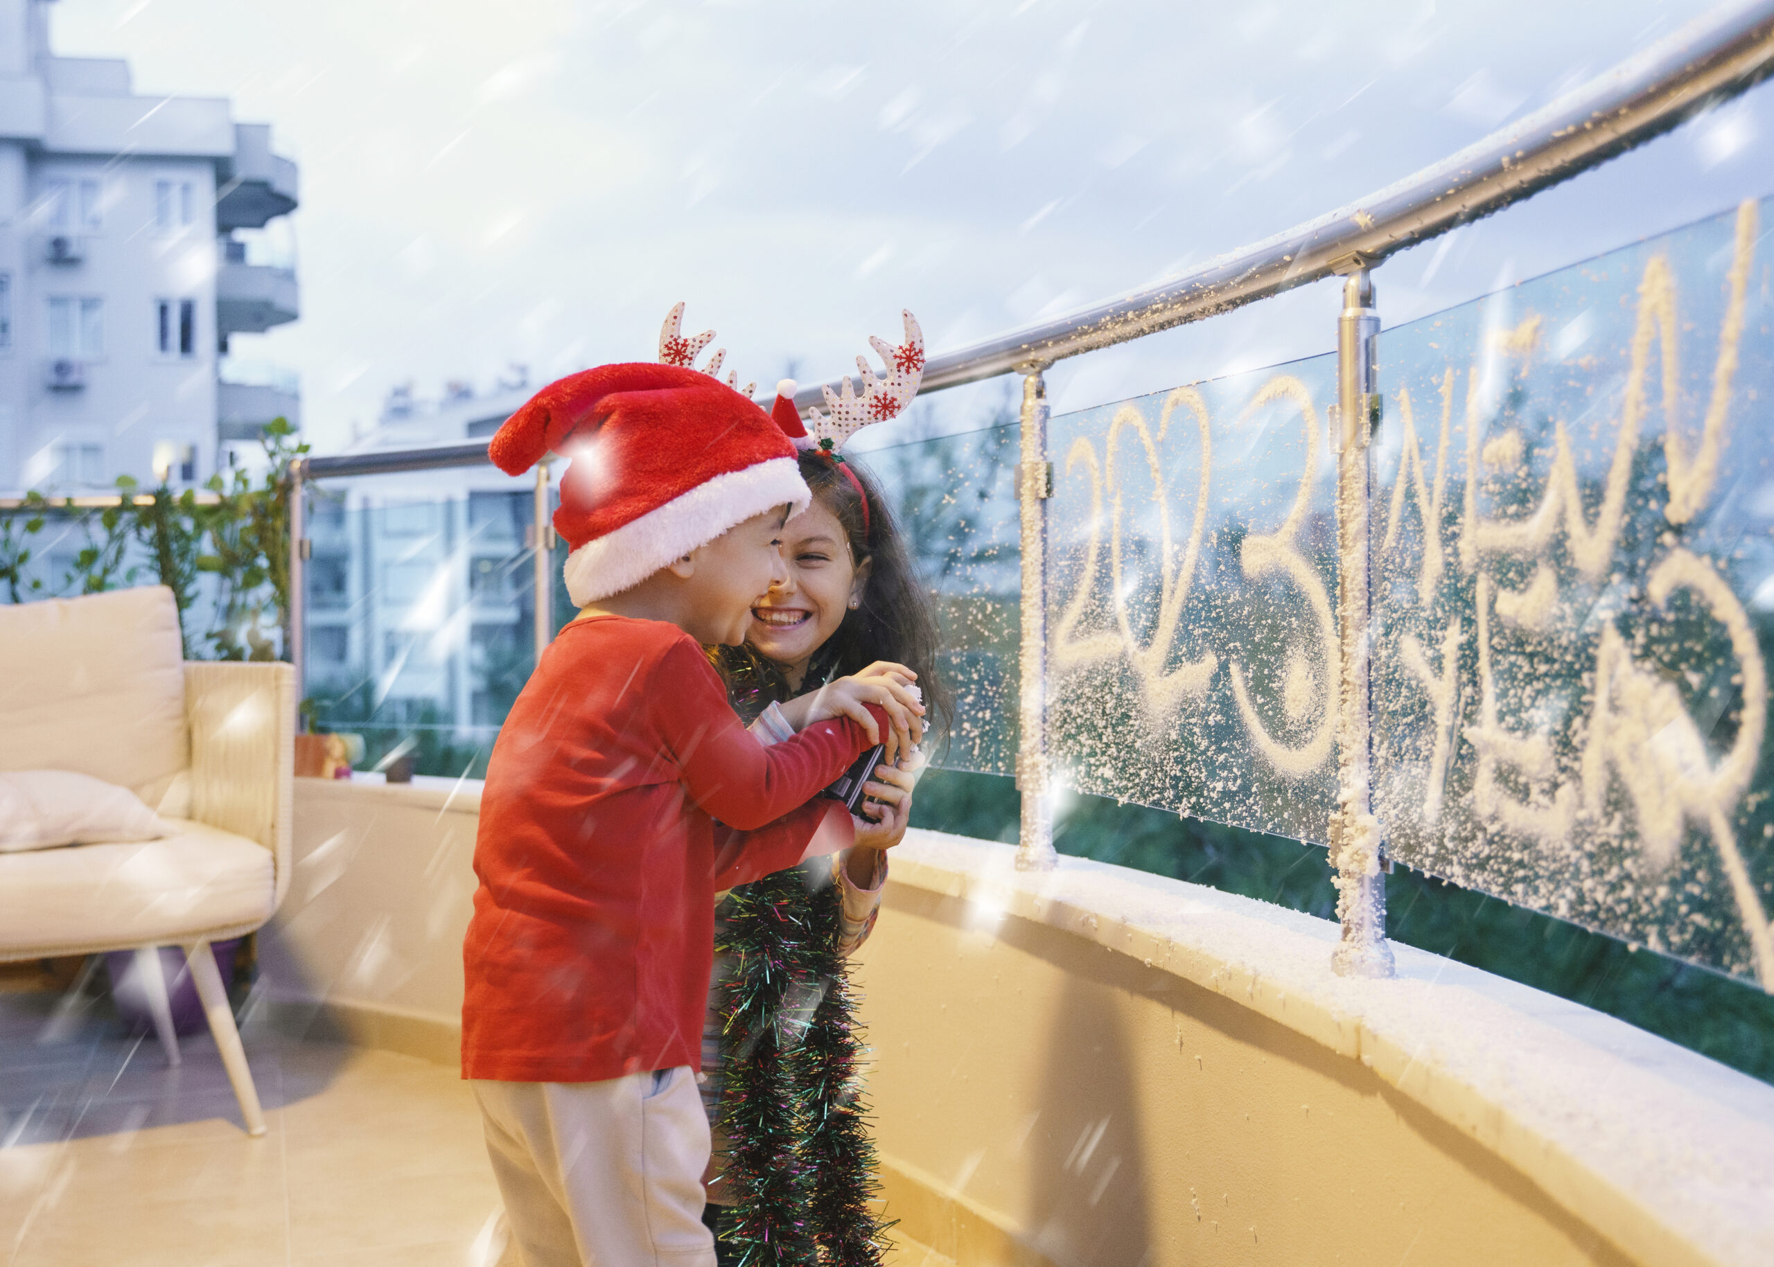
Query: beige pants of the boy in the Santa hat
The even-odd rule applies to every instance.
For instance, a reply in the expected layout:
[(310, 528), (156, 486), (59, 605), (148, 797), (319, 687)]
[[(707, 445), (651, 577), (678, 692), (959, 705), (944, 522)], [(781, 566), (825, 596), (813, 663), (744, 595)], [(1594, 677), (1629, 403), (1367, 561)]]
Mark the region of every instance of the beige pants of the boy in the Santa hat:
[(525, 1267), (713, 1267), (708, 1116), (688, 1066), (472, 1086)]

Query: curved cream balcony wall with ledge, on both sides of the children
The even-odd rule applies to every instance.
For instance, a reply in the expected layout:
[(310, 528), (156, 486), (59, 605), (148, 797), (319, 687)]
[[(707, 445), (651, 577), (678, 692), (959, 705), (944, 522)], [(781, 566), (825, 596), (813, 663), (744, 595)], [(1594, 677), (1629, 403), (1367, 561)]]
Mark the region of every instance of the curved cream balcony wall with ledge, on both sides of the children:
[[(451, 1061), (479, 784), (296, 781), (284, 1024)], [(887, 1208), (962, 1263), (1774, 1262), (1774, 1088), (1123, 868), (912, 832), (859, 956)]]

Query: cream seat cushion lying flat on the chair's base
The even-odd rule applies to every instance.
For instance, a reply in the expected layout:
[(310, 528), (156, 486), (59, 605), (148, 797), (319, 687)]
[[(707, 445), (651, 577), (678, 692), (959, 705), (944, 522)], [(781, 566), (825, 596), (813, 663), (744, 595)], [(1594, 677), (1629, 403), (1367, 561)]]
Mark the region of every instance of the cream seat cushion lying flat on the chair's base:
[(271, 916), (270, 850), (206, 823), (165, 822), (174, 834), (156, 841), (0, 857), (0, 955), (170, 944)]

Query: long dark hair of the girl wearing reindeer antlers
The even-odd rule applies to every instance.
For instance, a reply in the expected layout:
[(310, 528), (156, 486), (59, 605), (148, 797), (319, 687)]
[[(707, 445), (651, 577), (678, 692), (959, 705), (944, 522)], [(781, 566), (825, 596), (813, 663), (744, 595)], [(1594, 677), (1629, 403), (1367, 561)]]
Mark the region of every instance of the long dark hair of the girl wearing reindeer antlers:
[[(903, 664), (917, 674), (917, 685), (924, 692), (926, 728), (946, 735), (953, 704), (937, 673), (937, 618), (930, 607), (930, 593), (919, 584), (892, 508), (882, 499), (875, 477), (855, 460), (846, 460), (844, 465), (857, 477), (857, 484), (862, 484), (862, 495), (830, 458), (809, 451), (800, 454), (800, 474), (820, 504), (843, 525), (850, 539), (850, 557), (859, 566), (864, 559), (873, 559), (873, 566), (869, 582), (862, 589), (862, 603), (844, 612), (843, 625), (814, 653), (802, 690), (859, 673), (876, 660)], [(867, 497), (869, 506), (867, 531), (864, 531), (862, 497)], [(750, 644), (720, 646), (711, 655), (715, 669), (727, 683), (733, 706), (743, 717), (756, 717), (772, 703), (789, 697), (782, 667), (757, 655)], [(928, 745), (930, 740), (926, 751)]]

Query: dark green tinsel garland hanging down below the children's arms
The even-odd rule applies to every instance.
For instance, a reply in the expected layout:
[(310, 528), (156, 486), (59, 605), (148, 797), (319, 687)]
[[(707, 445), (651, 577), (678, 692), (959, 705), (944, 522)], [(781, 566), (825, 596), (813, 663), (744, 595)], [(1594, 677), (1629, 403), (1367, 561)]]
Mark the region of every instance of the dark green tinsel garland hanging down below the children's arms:
[(860, 1043), (837, 953), (839, 900), (800, 870), (733, 891), (717, 951), (734, 1196), (726, 1235), (743, 1267), (878, 1267), (875, 1146), (855, 1077)]

